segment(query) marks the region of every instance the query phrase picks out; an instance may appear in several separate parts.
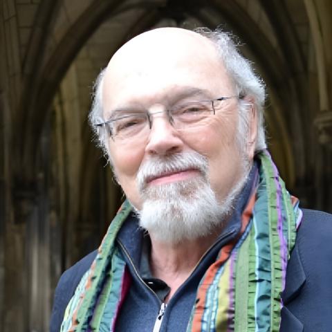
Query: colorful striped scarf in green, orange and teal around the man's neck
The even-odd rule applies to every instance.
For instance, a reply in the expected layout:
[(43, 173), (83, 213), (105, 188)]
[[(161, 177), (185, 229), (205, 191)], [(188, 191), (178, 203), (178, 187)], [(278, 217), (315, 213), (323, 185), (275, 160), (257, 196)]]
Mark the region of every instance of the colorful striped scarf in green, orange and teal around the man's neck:
[[(268, 152), (257, 159), (259, 185), (243, 211), (241, 232), (201, 280), (187, 332), (279, 331), (280, 295), (302, 213)], [(62, 332), (114, 331), (130, 284), (115, 239), (130, 212), (126, 201), (68, 303)]]

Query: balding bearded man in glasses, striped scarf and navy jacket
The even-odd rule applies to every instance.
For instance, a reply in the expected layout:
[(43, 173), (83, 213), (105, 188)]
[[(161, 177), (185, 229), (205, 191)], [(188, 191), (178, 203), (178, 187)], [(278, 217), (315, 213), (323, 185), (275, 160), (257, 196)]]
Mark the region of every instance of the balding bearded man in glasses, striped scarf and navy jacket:
[(289, 196), (263, 104), (225, 33), (118, 50), (90, 120), (127, 201), (62, 275), (51, 331), (331, 331), (332, 219)]

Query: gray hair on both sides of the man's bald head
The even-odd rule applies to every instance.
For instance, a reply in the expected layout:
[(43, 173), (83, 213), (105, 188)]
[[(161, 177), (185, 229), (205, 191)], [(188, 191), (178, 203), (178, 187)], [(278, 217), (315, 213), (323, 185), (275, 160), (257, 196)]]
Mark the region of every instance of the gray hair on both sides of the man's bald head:
[[(234, 82), (235, 89), (239, 96), (250, 96), (254, 100), (254, 106), (257, 110), (257, 141), (255, 152), (266, 149), (265, 129), (264, 129), (264, 101), (265, 101), (265, 85), (264, 82), (255, 74), (254, 69), (248, 59), (243, 57), (237, 49), (237, 44), (234, 42), (234, 37), (230, 33), (225, 33), (222, 30), (209, 30), (208, 28), (198, 28), (196, 33), (210, 39), (214, 44), (219, 57), (221, 58), (228, 75), (230, 75)], [(104, 79), (104, 68), (98, 75), (97, 80), (93, 86), (93, 103), (91, 112), (89, 114), (89, 122), (93, 129), (95, 142), (102, 148), (104, 156), (108, 159), (109, 151), (107, 149), (107, 138), (102, 137), (95, 126), (98, 122), (103, 122), (102, 109), (102, 83)], [(245, 100), (240, 100), (239, 107), (239, 138), (246, 137), (248, 131), (248, 104)], [(241, 142), (243, 144), (244, 142)]]

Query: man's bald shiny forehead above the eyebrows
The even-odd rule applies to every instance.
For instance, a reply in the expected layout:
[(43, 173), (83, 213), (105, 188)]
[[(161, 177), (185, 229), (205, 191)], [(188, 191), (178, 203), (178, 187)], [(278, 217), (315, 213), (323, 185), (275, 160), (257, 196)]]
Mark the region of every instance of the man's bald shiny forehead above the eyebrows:
[(132, 39), (113, 56), (104, 76), (103, 104), (161, 102), (187, 87), (216, 96), (233, 90), (210, 40), (183, 29), (158, 29)]

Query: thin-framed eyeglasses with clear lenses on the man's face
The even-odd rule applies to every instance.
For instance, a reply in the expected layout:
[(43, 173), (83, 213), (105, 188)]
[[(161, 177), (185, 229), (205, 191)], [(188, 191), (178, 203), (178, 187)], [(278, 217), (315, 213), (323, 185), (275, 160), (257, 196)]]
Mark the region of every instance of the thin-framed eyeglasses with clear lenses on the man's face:
[(214, 100), (201, 100), (176, 105), (170, 109), (156, 111), (129, 111), (106, 122), (95, 124), (98, 134), (105, 138), (111, 137), (114, 141), (134, 142), (146, 138), (152, 127), (152, 116), (166, 113), (169, 123), (178, 131), (188, 131), (208, 124), (216, 109), (221, 108), (224, 100), (239, 98), (237, 95), (220, 97)]

